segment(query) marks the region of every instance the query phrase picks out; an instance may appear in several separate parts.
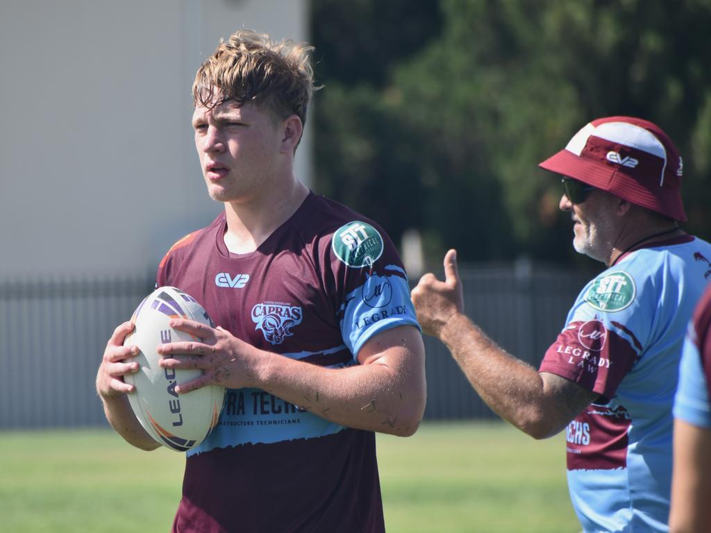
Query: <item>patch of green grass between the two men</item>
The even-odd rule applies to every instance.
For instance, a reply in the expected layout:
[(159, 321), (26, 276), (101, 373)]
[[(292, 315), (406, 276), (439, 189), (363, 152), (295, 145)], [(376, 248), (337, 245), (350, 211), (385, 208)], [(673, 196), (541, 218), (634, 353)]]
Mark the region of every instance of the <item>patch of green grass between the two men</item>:
[(426, 424), (378, 436), (390, 532), (578, 532), (565, 479), (565, 438), (499, 423)]

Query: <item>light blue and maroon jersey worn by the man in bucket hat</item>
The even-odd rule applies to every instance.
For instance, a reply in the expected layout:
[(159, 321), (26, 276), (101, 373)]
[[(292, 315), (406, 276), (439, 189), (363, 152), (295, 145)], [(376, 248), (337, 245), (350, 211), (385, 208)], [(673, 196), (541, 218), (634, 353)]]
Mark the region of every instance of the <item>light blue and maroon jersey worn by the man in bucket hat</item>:
[(585, 532), (665, 532), (671, 407), (711, 244), (676, 237), (624, 254), (590, 281), (540, 372), (600, 396), (568, 426), (570, 497)]

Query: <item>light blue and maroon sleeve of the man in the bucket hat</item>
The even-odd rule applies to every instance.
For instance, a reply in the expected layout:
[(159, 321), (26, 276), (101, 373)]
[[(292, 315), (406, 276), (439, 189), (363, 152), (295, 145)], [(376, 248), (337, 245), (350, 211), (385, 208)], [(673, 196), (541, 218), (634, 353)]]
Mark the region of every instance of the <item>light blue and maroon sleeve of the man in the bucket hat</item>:
[(607, 271), (591, 281), (570, 310), (539, 367), (611, 398), (635, 365), (650, 334), (656, 309), (653, 290), (638, 291), (626, 271)]

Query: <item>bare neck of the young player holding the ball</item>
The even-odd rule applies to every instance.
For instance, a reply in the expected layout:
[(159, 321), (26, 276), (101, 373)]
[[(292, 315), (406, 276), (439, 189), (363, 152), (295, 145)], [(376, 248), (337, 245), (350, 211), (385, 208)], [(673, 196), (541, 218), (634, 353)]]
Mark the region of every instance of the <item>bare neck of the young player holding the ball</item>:
[(269, 187), (264, 195), (225, 203), (225, 245), (235, 254), (254, 252), (299, 209), (309, 189), (294, 179), (286, 188)]

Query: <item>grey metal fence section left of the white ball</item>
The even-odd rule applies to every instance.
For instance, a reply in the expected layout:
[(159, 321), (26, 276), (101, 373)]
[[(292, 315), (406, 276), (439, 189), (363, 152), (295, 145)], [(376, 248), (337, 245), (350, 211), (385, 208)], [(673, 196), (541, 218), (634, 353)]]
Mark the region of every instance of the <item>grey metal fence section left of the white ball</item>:
[(106, 424), (97, 368), (151, 290), (147, 277), (0, 284), (0, 428)]

